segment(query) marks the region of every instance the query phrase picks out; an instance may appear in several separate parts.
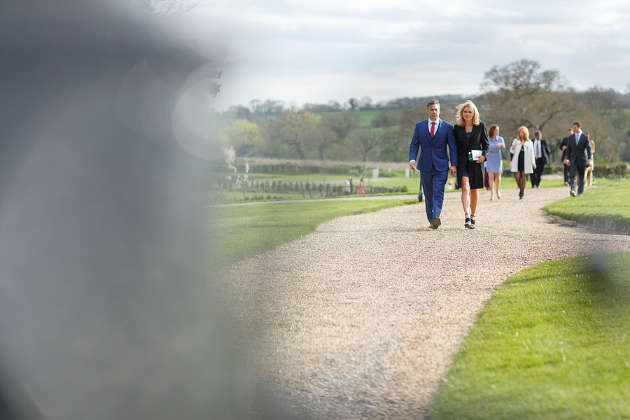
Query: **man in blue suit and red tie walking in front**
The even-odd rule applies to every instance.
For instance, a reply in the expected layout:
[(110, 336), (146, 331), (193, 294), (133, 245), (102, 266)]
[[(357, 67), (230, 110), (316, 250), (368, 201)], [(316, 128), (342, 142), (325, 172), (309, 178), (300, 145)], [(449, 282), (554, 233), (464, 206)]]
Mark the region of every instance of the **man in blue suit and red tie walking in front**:
[(440, 102), (437, 99), (426, 104), (426, 113), (428, 119), (416, 123), (409, 144), (409, 167), (412, 171), (420, 171), (420, 182), (426, 195), (426, 218), (430, 228), (437, 229), (442, 224), (440, 214), (444, 204), (444, 186), (449, 174), (457, 172), (457, 145), (453, 125), (440, 120)]

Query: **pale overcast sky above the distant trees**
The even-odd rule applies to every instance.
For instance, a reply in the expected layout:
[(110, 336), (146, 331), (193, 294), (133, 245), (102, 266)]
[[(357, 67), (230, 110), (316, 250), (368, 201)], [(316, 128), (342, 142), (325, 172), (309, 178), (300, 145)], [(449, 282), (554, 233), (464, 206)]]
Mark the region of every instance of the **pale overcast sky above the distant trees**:
[(519, 59), (577, 90), (630, 86), (627, 0), (201, 0), (179, 22), (225, 48), (218, 111), (478, 94)]

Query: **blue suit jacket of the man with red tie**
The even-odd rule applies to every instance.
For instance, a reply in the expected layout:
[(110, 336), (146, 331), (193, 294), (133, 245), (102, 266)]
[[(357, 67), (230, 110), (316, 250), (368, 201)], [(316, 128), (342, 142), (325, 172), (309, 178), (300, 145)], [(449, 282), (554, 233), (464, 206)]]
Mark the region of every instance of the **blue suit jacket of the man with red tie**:
[[(448, 151), (447, 151), (448, 147)], [(418, 157), (418, 151), (420, 156)], [(449, 165), (449, 156), (451, 165)], [(428, 120), (416, 123), (416, 130), (409, 144), (409, 161), (415, 160), (420, 172), (448, 171), (450, 166), (457, 166), (457, 144), (453, 134), (453, 125), (440, 120), (437, 132), (431, 139)]]

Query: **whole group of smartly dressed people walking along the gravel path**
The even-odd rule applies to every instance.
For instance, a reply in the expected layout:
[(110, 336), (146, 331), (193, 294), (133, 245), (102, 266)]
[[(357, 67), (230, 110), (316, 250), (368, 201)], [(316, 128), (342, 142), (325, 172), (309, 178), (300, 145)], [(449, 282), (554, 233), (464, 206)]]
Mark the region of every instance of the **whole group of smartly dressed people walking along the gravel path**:
[[(459, 104), (456, 109), (456, 123), (451, 125), (440, 119), (440, 102), (437, 99), (428, 102), (428, 118), (416, 123), (409, 144), (409, 167), (421, 173), (426, 216), (429, 228), (434, 230), (442, 224), (440, 214), (444, 204), (444, 186), (449, 175), (457, 175), (456, 188), (461, 188), (465, 228), (475, 229), (479, 203), (477, 190), (486, 186), (484, 172), (491, 190), (490, 200), (501, 198), (503, 151), (507, 146), (499, 135), (499, 126), (493, 124), (486, 130), (479, 120), (477, 106), (470, 100)], [(592, 165), (589, 137), (581, 132), (580, 127), (580, 123), (573, 123), (573, 133), (560, 146), (563, 163), (570, 168), (570, 194), (573, 196), (582, 195), (585, 167)], [(549, 164), (550, 156), (549, 144), (542, 139), (540, 130), (534, 133), (532, 141), (527, 127), (518, 128), (517, 137), (510, 146), (510, 171), (514, 173), (519, 187), (519, 199), (524, 197), (528, 175), (532, 188), (540, 188), (542, 172)], [(486, 165), (482, 165), (484, 162)], [(567, 179), (566, 183), (569, 183)]]

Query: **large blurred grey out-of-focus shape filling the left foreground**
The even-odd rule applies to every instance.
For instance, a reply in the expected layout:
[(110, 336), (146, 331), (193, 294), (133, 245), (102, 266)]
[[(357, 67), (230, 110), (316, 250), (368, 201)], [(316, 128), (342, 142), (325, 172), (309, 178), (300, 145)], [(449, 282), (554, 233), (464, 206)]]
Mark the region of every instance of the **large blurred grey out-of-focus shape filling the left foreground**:
[(237, 418), (208, 161), (174, 123), (207, 59), (73, 3), (0, 6), (0, 417)]

